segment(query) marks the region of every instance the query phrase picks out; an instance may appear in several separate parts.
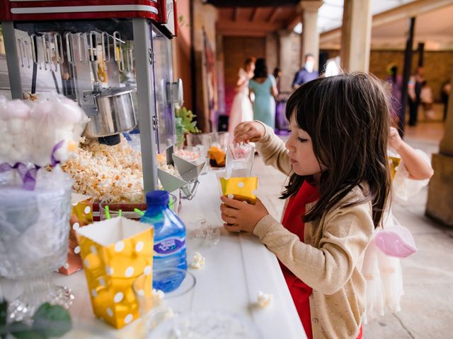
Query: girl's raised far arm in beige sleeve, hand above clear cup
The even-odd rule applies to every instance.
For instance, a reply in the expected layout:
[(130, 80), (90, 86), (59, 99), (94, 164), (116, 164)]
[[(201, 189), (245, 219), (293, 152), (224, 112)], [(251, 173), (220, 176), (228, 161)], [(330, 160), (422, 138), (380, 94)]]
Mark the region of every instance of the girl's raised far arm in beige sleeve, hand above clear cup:
[(271, 165), (284, 174), (292, 171), (285, 143), (273, 129), (260, 121), (246, 121), (234, 129), (234, 142), (255, 142), (256, 150), (265, 165)]

